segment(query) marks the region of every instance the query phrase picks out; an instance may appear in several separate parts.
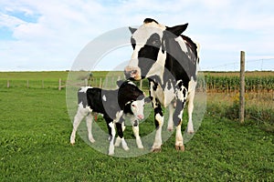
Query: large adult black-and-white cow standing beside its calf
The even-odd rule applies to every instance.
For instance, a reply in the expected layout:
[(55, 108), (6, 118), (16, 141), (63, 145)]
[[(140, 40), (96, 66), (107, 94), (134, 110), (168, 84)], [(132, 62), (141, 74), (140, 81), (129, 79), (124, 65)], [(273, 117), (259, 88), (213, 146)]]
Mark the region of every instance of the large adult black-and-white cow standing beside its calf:
[(181, 35), (187, 25), (168, 27), (146, 18), (138, 29), (130, 27), (133, 54), (124, 74), (134, 80), (146, 77), (150, 82), (156, 126), (153, 151), (160, 151), (162, 146), (161, 106), (169, 107), (168, 129), (176, 126), (177, 150), (184, 151), (181, 124), (186, 98), (189, 102), (187, 131), (194, 132), (192, 112), (199, 58), (198, 45)]

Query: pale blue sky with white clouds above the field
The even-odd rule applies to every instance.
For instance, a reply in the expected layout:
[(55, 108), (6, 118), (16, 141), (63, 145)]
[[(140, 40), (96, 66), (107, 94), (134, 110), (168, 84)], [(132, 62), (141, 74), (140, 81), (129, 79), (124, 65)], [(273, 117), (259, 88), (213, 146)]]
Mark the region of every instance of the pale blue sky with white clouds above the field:
[[(271, 0), (2, 0), (0, 71), (70, 69), (94, 38), (142, 25), (146, 17), (169, 26), (189, 23), (184, 35), (200, 44), (202, 70), (238, 70), (241, 50), (248, 70), (274, 70)], [(95, 69), (111, 70), (131, 55), (130, 45), (121, 46)]]

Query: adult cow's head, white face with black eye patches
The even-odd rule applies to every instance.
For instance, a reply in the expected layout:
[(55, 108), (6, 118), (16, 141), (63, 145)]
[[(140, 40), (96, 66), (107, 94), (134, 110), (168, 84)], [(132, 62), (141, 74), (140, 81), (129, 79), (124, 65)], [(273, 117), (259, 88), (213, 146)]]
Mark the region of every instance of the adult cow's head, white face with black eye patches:
[(140, 80), (149, 77), (153, 65), (155, 69), (159, 66), (161, 69), (164, 66), (161, 60), (166, 57), (166, 41), (181, 35), (186, 27), (187, 24), (168, 27), (151, 18), (146, 18), (138, 29), (130, 27), (133, 54), (130, 64), (124, 69), (126, 78)]

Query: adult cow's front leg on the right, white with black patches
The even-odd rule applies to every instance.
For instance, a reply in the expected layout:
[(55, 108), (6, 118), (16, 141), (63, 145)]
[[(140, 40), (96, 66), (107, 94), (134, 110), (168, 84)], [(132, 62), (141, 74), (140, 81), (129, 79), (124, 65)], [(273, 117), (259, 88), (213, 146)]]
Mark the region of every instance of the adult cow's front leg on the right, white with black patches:
[(176, 94), (176, 108), (174, 111), (174, 126), (176, 126), (175, 148), (184, 151), (184, 140), (181, 131), (183, 111), (186, 102), (187, 89), (183, 83), (177, 85)]

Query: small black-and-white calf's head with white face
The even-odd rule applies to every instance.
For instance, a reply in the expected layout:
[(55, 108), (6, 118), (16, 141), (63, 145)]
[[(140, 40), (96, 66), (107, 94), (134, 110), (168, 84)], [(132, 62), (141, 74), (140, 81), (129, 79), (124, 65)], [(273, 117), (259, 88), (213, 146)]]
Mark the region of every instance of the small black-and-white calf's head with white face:
[(121, 109), (128, 107), (128, 112), (140, 120), (144, 118), (144, 104), (151, 101), (151, 97), (146, 97), (132, 81), (117, 81), (119, 86), (118, 100)]

